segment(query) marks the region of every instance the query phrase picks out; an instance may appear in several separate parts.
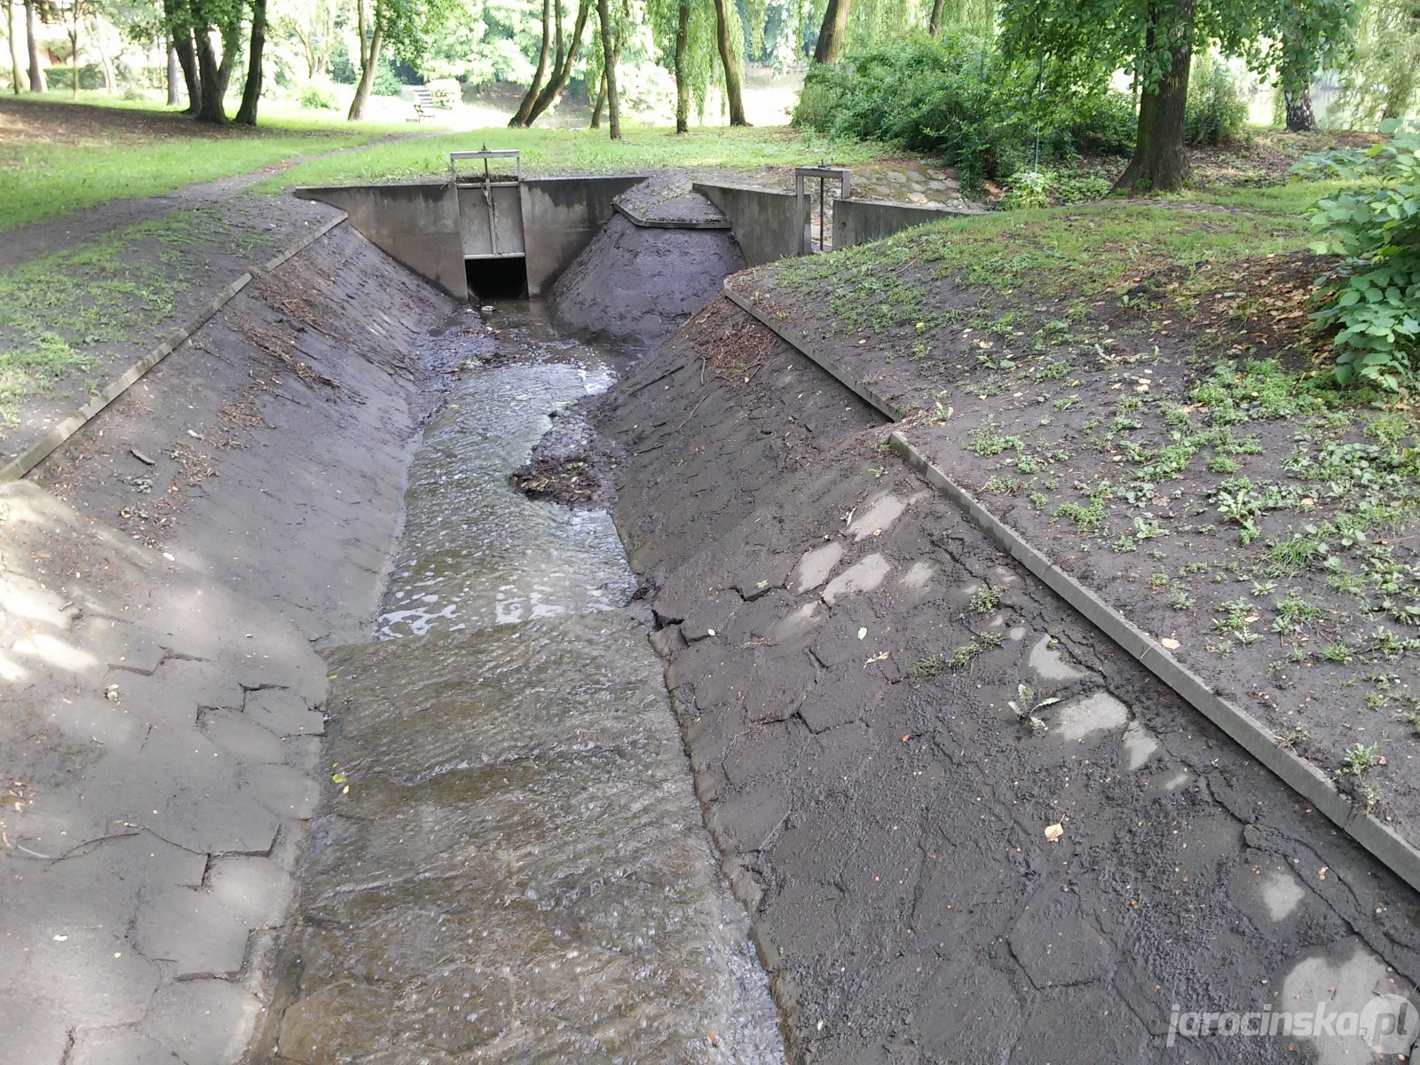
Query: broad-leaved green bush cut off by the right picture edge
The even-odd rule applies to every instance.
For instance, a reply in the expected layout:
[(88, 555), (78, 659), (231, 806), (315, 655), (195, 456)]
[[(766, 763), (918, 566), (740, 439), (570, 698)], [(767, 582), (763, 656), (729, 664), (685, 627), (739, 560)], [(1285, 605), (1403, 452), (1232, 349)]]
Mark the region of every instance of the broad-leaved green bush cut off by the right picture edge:
[(1312, 207), (1318, 254), (1340, 256), (1319, 278), (1325, 304), (1312, 320), (1340, 327), (1336, 379), (1389, 389), (1416, 379), (1420, 354), (1420, 126), (1382, 125), (1383, 145), (1305, 156), (1294, 172), (1365, 182)]

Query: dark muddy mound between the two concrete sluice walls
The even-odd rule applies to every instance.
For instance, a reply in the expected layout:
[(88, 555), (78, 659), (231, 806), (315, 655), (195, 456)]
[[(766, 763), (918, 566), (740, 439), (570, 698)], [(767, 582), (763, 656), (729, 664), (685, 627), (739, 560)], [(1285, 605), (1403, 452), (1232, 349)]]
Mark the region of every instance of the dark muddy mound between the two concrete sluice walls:
[(744, 268), (727, 230), (643, 229), (616, 214), (552, 285), (557, 320), (586, 337), (650, 344)]

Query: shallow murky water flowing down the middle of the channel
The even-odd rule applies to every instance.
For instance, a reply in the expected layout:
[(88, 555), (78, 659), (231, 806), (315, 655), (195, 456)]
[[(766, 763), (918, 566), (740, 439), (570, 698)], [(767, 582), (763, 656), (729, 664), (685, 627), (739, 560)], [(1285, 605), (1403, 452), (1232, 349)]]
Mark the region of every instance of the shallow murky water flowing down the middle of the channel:
[(615, 530), (506, 480), (611, 373), (535, 314), (497, 321), (518, 361), (427, 427), (383, 639), (328, 653), (275, 1056), (781, 1061)]

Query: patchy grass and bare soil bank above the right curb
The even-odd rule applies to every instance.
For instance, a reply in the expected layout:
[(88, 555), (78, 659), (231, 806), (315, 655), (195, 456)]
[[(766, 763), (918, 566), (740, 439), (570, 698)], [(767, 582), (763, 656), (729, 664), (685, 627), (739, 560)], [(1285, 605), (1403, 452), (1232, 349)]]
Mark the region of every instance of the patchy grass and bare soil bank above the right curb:
[[(957, 219), (741, 275), (1003, 521), (1420, 834), (1420, 439), (1309, 327), (1296, 182)], [(970, 652), (970, 649), (963, 649)], [(951, 665), (968, 669), (961, 653)]]

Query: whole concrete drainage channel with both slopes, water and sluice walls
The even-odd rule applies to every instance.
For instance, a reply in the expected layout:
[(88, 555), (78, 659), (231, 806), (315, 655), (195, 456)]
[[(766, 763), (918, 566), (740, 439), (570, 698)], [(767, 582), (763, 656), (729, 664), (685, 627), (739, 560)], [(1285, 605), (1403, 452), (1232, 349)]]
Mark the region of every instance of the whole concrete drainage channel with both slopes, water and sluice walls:
[[(1261, 1062), (1170, 1056), (1167, 997), (1406, 990), (1409, 896), (1248, 815), (1275, 781), (872, 469), (900, 412), (714, 298), (801, 246), (794, 196), (494, 173), (305, 195), (447, 294), (545, 304), (483, 321), (334, 230), (318, 291), (251, 285), (36, 469), (72, 508), (4, 498), (54, 696), (21, 738), (64, 744), (11, 797), (17, 1059)], [(879, 206), (835, 241), (934, 216)], [(983, 588), (1071, 747), (912, 673)]]

